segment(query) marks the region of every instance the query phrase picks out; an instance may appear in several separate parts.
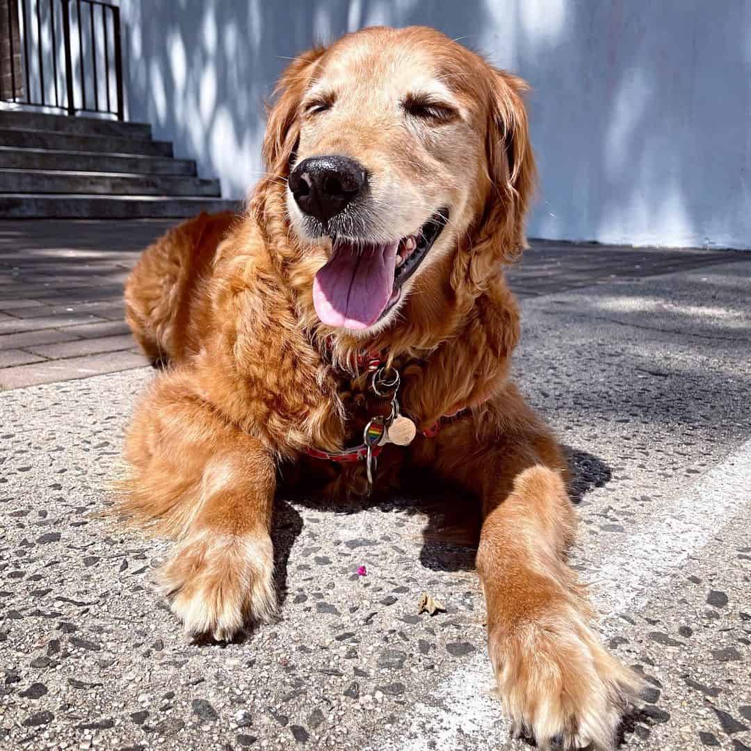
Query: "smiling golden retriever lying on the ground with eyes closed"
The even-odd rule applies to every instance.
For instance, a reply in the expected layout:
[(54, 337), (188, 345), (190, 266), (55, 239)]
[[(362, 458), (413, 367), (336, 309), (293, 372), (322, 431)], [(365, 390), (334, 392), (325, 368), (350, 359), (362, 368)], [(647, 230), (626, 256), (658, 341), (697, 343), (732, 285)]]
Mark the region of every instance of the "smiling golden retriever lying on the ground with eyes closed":
[(481, 505), (488, 650), (514, 727), (610, 749), (638, 682), (590, 626), (566, 565), (566, 462), (509, 380), (504, 264), (535, 179), (525, 89), (422, 27), (289, 65), (246, 215), (185, 222), (128, 279), (128, 322), (167, 367), (128, 430), (119, 511), (176, 540), (172, 610), (222, 640), (275, 614), (281, 466), (335, 493), (366, 492), (368, 469), (376, 492), (421, 469), (460, 484)]

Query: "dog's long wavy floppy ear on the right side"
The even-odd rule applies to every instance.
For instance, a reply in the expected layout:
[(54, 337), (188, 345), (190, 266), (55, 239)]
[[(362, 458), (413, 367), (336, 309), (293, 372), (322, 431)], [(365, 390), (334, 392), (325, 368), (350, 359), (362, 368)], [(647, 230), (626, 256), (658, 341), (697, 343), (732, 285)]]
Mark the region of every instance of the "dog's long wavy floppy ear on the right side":
[(490, 191), (469, 262), (469, 277), (478, 285), (496, 264), (514, 261), (526, 246), (524, 219), (536, 175), (522, 99), (529, 86), (505, 71), (492, 71), (486, 146)]

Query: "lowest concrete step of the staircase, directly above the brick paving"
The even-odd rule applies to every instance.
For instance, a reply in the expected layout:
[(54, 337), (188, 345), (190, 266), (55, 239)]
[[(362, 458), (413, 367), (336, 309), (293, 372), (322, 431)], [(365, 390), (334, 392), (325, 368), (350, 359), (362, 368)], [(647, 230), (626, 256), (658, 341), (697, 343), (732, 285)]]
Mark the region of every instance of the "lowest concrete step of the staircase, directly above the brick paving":
[(182, 219), (201, 211), (240, 211), (240, 201), (146, 195), (0, 194), (0, 219)]

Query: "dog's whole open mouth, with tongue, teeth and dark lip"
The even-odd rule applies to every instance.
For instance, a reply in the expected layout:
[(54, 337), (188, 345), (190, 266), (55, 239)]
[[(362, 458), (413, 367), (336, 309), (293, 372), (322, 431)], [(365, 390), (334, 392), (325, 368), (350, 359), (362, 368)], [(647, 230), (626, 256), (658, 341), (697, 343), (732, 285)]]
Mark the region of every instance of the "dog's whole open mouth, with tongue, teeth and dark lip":
[(392, 243), (333, 238), (331, 258), (313, 282), (318, 318), (329, 326), (354, 330), (375, 324), (397, 303), (404, 283), (447, 222), (448, 209), (441, 209), (415, 234)]

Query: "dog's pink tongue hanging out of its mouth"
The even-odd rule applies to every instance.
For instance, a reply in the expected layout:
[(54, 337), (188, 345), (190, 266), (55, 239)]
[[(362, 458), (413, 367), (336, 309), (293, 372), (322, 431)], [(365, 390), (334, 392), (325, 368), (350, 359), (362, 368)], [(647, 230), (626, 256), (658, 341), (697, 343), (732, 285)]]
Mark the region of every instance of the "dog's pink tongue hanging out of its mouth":
[(340, 243), (315, 275), (313, 305), (329, 326), (363, 329), (378, 321), (394, 291), (399, 243), (355, 249)]

